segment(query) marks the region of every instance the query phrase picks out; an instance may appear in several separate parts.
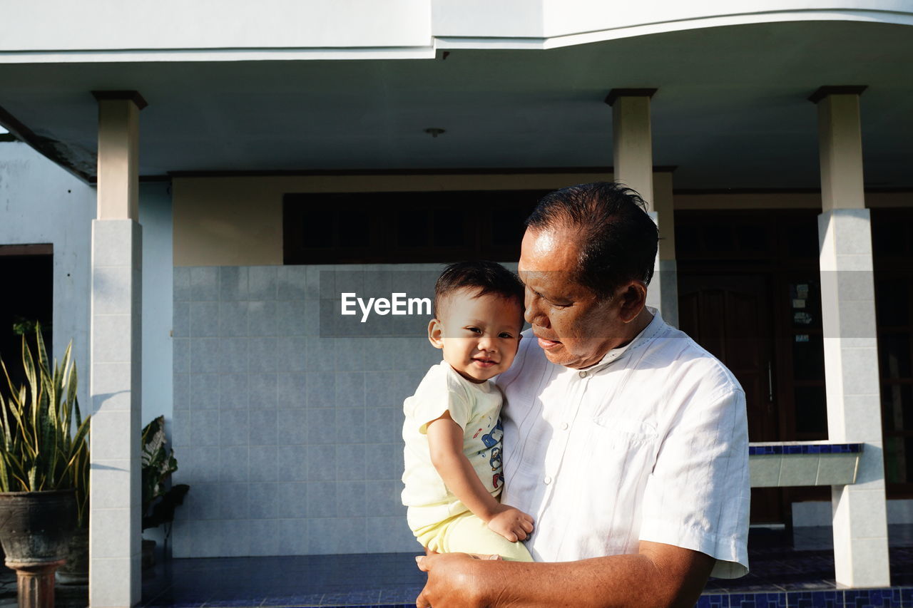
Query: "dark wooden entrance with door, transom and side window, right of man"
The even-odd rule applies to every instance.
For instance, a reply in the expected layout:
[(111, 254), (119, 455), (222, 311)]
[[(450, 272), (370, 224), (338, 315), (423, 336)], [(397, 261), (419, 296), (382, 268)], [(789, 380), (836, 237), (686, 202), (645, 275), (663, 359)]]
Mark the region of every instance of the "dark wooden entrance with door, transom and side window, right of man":
[[(749, 440), (827, 439), (817, 209), (676, 213), (679, 326), (745, 389)], [(751, 523), (829, 487), (752, 488)]]

